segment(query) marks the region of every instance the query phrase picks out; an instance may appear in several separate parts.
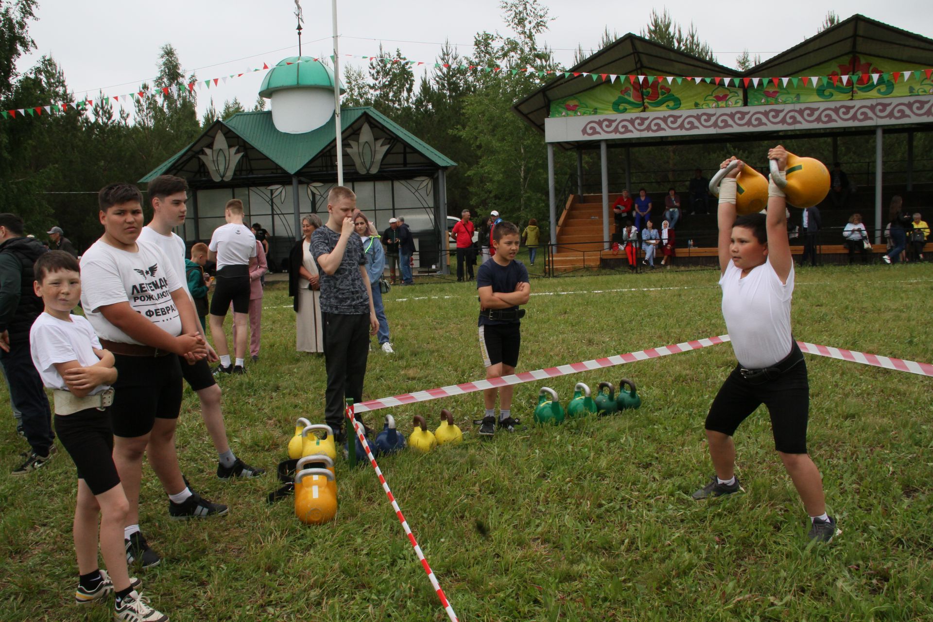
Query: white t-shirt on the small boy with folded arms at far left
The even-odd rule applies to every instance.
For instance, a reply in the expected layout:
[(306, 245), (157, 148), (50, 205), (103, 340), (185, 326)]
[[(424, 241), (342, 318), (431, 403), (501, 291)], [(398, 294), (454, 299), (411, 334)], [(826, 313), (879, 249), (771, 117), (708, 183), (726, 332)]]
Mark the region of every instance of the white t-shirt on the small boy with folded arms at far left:
[[(94, 334), (91, 323), (80, 315), (72, 315), (71, 322), (65, 322), (49, 313), (41, 313), (29, 331), (29, 349), (33, 355), (33, 365), (42, 383), (49, 389), (68, 391), (62, 375), (55, 368), (56, 363), (77, 361), (82, 367), (100, 363), (97, 354), (91, 348), (104, 350)], [(102, 384), (91, 391), (91, 395), (104, 393), (109, 385)]]

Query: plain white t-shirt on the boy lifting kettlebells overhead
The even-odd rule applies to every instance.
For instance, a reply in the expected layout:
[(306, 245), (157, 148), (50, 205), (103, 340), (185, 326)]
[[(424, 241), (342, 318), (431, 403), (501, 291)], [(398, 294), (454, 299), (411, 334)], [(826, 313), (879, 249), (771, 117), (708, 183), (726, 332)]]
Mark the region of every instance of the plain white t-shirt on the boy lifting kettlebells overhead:
[(771, 261), (749, 270), (731, 261), (719, 279), (722, 317), (739, 363), (750, 369), (770, 367), (784, 360), (793, 345), (790, 336), (790, 297), (794, 293), (794, 269), (781, 283)]

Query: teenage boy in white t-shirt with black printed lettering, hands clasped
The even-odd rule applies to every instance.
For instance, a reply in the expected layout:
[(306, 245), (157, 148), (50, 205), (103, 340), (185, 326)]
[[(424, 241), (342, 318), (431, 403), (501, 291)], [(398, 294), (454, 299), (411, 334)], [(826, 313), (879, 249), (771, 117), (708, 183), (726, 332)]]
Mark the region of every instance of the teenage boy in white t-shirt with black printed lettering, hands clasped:
[(81, 305), (116, 359), (113, 455), (130, 502), (127, 560), (140, 560), (147, 568), (160, 558), (138, 524), (143, 454), (169, 495), (171, 518), (223, 515), (227, 506), (189, 491), (178, 469), (178, 356), (193, 364), (207, 356), (207, 345), (174, 263), (155, 244), (136, 242), (143, 229), (142, 201), (139, 189), (130, 184), (111, 184), (98, 194), (104, 235), (81, 256)]

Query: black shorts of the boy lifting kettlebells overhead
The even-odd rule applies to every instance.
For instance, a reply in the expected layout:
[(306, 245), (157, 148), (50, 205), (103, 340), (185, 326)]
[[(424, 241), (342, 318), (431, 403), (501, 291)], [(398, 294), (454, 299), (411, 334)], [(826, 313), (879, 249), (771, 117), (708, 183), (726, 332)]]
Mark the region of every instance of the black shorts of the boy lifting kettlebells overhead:
[(771, 415), (774, 449), (806, 453), (810, 385), (807, 365), (796, 342), (786, 360), (797, 362), (778, 378), (760, 384), (745, 380), (741, 366), (735, 366), (709, 408), (706, 429), (731, 436), (748, 415), (764, 404)]

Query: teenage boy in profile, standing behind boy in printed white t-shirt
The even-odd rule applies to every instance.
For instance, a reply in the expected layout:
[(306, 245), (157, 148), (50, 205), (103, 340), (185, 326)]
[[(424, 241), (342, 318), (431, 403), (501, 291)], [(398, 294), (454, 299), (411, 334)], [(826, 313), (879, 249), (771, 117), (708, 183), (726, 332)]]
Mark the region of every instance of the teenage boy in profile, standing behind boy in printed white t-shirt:
[[(188, 291), (185, 241), (172, 231), (173, 228), (185, 224), (185, 215), (188, 213), (188, 182), (174, 175), (160, 175), (149, 182), (147, 190), (152, 205), (152, 221), (143, 228), (139, 241), (156, 244), (165, 256), (174, 260), (175, 274), (179, 281), (185, 284), (188, 301), (197, 315), (194, 299)], [(201, 328), (200, 323), (198, 327)], [(217, 386), (208, 365), (208, 361), (216, 360), (216, 352), (207, 344), (206, 358), (195, 362), (194, 365), (188, 365), (185, 361), (179, 363), (182, 377), (201, 400), (201, 417), (217, 450), (217, 477), (258, 477), (265, 473), (265, 470), (250, 466), (237, 458), (227, 441), (227, 427), (220, 410), (220, 387)]]

